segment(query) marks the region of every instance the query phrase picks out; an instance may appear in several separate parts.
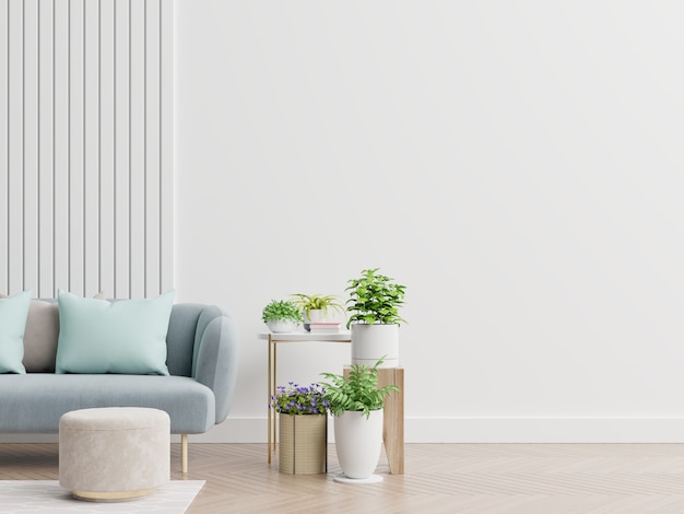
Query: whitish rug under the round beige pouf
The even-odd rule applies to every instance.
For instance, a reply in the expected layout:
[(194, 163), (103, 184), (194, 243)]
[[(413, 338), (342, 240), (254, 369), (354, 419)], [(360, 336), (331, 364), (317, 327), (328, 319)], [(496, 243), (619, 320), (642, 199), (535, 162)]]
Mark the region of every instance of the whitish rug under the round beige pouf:
[(2, 514), (182, 514), (204, 486), (204, 480), (172, 480), (155, 493), (119, 503), (74, 500), (57, 480), (0, 480)]

